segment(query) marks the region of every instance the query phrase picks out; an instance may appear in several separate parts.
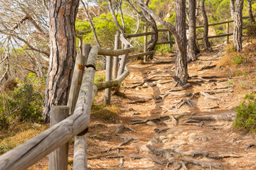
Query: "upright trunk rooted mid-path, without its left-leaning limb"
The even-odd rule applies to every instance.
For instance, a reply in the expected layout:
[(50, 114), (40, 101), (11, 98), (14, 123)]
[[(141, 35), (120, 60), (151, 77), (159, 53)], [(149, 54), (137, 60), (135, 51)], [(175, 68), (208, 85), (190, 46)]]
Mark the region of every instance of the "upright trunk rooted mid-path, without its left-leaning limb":
[(183, 51), (180, 51), (176, 43), (175, 81), (181, 86), (188, 81), (188, 67), (186, 61), (186, 1), (176, 0), (176, 31), (181, 40)]

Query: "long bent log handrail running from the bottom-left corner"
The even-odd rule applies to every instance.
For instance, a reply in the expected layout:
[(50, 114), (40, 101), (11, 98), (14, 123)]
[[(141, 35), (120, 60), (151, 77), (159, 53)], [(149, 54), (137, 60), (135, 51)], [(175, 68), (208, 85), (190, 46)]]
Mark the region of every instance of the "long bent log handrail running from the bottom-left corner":
[[(97, 54), (89, 57), (97, 57)], [(94, 61), (89, 58), (89, 61)], [(95, 60), (96, 61), (96, 60)], [(92, 65), (96, 63), (92, 62)], [(72, 137), (88, 128), (90, 122), (90, 111), (92, 106), (92, 91), (95, 77), (95, 69), (87, 68), (82, 78), (82, 86), (78, 96), (75, 112), (70, 117), (61, 121), (33, 137), (31, 140), (19, 145), (9, 152), (1, 155), (0, 169), (27, 169), (47, 154), (64, 145)]]

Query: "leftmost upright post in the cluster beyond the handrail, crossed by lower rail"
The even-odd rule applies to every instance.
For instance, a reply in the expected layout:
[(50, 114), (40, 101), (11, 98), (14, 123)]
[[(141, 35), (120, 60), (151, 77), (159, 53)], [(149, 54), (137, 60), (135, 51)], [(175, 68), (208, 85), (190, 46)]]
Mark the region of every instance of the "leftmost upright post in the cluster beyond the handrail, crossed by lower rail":
[[(107, 64), (106, 64), (106, 82), (112, 80), (112, 56), (107, 56)], [(105, 89), (105, 103), (110, 104), (111, 101), (111, 88)]]

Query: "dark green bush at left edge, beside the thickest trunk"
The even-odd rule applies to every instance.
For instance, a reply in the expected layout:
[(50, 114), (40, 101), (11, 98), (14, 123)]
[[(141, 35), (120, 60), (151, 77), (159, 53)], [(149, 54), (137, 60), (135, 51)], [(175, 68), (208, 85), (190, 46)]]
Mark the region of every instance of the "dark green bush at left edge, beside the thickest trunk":
[(19, 122), (40, 122), (43, 96), (25, 84), (0, 95), (0, 128), (8, 128)]

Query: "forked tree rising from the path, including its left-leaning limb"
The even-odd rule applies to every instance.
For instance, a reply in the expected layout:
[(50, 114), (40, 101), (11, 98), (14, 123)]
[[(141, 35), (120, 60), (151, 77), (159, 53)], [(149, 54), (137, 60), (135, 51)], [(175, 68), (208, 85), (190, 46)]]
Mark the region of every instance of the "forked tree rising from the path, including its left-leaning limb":
[(174, 35), (176, 41), (176, 69), (174, 77), (181, 86), (186, 84), (188, 81), (186, 60), (186, 1), (176, 0), (176, 27), (157, 16), (142, 0), (137, 0), (137, 2), (154, 20), (161, 23)]

